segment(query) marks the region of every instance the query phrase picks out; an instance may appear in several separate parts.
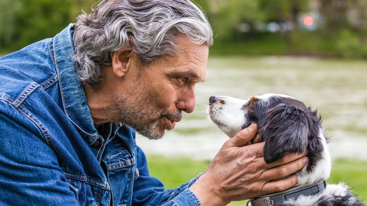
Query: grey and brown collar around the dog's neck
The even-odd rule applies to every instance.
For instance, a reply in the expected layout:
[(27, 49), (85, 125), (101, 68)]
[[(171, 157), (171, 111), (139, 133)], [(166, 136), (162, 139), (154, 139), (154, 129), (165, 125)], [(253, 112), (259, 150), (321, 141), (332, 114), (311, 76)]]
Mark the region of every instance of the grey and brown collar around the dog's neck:
[(251, 202), (251, 206), (272, 206), (274, 203), (282, 203), (290, 198), (297, 198), (300, 195), (316, 195), (326, 189), (326, 180), (320, 180), (314, 184), (306, 185), (304, 187), (293, 188), (279, 193), (273, 193), (269, 195), (259, 196), (247, 201)]

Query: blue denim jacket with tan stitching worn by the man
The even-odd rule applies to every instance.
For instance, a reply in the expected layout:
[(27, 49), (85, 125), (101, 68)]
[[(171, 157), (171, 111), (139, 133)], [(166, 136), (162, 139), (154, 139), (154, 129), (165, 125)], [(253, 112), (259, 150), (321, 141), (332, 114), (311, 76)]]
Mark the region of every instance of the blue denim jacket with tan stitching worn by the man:
[(94, 125), (70, 24), (0, 58), (0, 205), (200, 205), (149, 175), (135, 131)]

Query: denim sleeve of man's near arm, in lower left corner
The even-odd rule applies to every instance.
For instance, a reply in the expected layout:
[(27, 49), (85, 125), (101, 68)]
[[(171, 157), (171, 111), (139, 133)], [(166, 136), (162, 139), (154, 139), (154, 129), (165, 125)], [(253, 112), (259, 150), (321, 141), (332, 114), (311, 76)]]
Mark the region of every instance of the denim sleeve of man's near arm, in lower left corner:
[(38, 126), (1, 99), (0, 131), (0, 205), (78, 205)]

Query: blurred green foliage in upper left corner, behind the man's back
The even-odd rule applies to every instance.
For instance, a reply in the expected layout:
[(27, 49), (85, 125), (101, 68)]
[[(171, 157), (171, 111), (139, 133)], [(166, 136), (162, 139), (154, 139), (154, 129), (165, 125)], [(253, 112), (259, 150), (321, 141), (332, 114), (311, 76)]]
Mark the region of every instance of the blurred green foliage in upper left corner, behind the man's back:
[(78, 11), (81, 10), (81, 5), (89, 5), (89, 8), (93, 2), (94, 0), (2, 0), (0, 48), (14, 51), (44, 38), (54, 37), (69, 23), (74, 22), (78, 13), (76, 8)]

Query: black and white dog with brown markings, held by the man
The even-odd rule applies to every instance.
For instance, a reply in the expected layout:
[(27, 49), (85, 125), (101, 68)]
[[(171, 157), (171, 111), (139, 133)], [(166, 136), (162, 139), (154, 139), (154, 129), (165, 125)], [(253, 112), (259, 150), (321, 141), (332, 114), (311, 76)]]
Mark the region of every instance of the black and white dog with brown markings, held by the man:
[(265, 141), (266, 163), (275, 162), (287, 153), (309, 151), (309, 164), (297, 172), (296, 187), (254, 198), (250, 203), (252, 206), (365, 206), (344, 183), (326, 184), (331, 170), (328, 138), (317, 111), (298, 99), (273, 93), (248, 100), (211, 96), (208, 114), (229, 137), (252, 122), (257, 123), (258, 135), (251, 144)]

